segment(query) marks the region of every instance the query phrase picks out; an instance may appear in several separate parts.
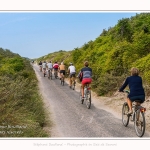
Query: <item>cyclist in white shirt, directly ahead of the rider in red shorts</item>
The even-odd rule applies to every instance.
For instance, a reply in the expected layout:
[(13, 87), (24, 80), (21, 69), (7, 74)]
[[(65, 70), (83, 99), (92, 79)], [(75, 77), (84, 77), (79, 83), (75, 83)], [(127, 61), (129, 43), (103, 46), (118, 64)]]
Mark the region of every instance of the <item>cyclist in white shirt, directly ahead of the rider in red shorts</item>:
[(75, 75), (76, 75), (76, 68), (73, 65), (73, 63), (70, 63), (70, 66), (68, 67), (68, 72), (69, 72), (69, 87), (71, 88), (72, 86), (72, 78), (75, 82)]

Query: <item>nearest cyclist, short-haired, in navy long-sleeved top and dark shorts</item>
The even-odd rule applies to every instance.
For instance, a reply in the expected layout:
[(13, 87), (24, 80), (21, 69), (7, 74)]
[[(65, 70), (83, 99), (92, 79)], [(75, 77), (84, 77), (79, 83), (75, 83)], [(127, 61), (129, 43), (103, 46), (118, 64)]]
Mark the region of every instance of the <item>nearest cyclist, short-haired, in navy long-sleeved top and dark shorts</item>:
[(123, 92), (127, 85), (130, 89), (130, 93), (127, 97), (127, 103), (129, 106), (128, 114), (132, 114), (132, 102), (135, 100), (141, 100), (141, 103), (143, 103), (145, 101), (145, 91), (142, 85), (142, 78), (139, 76), (138, 68), (131, 68), (131, 76), (126, 78), (125, 82), (120, 87), (119, 92)]

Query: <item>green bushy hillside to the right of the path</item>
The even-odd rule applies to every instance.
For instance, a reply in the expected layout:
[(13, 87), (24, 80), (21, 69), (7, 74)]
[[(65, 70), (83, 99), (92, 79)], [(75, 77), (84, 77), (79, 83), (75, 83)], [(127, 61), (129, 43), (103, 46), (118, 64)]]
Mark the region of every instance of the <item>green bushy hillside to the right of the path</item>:
[(73, 62), (77, 71), (88, 60), (93, 68), (92, 88), (98, 95), (112, 94), (131, 67), (138, 67), (147, 96), (150, 95), (150, 13), (140, 13), (118, 20), (114, 27), (103, 29), (94, 40), (71, 51), (58, 51), (39, 60)]

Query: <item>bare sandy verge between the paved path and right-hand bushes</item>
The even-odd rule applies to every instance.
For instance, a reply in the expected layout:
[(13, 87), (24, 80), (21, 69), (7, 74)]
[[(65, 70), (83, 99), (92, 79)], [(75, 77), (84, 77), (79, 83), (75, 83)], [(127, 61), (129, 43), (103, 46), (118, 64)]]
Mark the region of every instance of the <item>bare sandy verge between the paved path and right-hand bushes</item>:
[[(66, 80), (67, 83), (68, 79)], [(80, 84), (76, 84), (76, 91), (79, 91)], [(122, 118), (122, 105), (126, 101), (126, 93), (116, 92), (111, 97), (97, 96), (96, 93), (92, 92), (92, 103), (96, 107), (107, 110), (117, 118)], [(146, 108), (145, 120), (146, 120), (146, 131), (150, 132), (150, 97), (146, 98), (142, 104)]]

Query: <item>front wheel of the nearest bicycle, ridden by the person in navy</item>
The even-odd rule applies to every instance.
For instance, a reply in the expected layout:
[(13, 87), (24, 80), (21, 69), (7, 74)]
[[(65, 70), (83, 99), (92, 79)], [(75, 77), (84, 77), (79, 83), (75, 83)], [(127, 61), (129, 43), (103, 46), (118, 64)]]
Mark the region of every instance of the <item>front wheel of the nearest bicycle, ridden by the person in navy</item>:
[(122, 106), (122, 123), (125, 127), (129, 124), (129, 116), (128, 116), (129, 106), (125, 102)]

